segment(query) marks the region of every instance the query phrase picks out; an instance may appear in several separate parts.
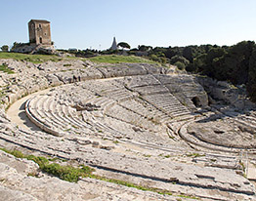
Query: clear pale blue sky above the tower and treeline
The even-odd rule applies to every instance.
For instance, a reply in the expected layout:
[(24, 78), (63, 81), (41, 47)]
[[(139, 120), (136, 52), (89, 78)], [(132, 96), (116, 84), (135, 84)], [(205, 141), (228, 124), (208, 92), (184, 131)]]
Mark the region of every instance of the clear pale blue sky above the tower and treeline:
[(27, 22), (50, 20), (57, 48), (234, 45), (256, 40), (256, 0), (0, 0), (0, 46), (28, 42)]

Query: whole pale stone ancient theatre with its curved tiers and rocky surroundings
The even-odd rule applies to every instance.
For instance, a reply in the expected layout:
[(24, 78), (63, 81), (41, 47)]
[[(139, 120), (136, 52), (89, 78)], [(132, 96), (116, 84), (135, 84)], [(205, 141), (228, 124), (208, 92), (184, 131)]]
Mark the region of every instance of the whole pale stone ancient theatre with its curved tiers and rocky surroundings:
[(1, 147), (149, 190), (62, 181), (0, 151), (1, 200), (256, 199), (255, 105), (240, 90), (147, 63), (2, 63), (15, 73), (0, 74)]

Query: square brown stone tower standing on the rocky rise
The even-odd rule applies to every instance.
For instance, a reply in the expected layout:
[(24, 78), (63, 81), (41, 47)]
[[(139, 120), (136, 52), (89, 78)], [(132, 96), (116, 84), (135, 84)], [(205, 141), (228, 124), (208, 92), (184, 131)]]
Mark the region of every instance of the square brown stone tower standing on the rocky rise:
[(28, 22), (28, 31), (30, 45), (52, 45), (50, 21), (30, 20)]

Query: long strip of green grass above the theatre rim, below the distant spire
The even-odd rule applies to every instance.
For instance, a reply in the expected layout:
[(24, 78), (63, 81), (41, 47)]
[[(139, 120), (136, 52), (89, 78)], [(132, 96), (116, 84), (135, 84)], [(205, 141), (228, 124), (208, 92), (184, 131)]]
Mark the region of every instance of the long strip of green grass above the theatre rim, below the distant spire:
[(107, 62), (107, 63), (120, 63), (120, 62), (147, 62), (147, 63), (157, 63), (153, 60), (147, 60), (141, 57), (135, 56), (117, 56), (117, 55), (109, 55), (109, 56), (98, 56), (94, 58), (90, 58), (88, 60), (94, 62)]

